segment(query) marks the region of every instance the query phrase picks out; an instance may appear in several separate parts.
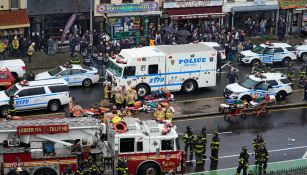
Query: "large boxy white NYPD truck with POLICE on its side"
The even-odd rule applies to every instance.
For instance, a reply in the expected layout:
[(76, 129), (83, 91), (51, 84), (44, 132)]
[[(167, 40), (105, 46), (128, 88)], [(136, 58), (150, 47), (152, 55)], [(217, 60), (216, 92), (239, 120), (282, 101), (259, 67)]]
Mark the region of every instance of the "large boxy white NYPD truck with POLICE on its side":
[(160, 88), (192, 93), (216, 85), (217, 51), (203, 43), (123, 49), (112, 57), (107, 78), (135, 87), (139, 97)]

